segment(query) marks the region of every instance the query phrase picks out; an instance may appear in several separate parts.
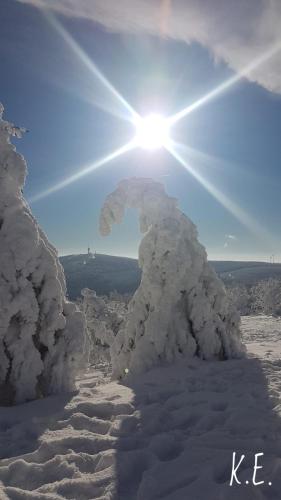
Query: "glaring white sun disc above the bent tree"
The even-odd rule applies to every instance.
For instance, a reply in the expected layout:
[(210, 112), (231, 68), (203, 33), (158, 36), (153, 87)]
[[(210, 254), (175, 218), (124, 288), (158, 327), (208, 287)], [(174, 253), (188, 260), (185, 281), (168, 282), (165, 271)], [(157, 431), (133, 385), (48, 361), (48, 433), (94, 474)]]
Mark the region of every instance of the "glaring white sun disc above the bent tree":
[(165, 147), (169, 143), (169, 123), (168, 120), (158, 114), (150, 114), (139, 117), (135, 120), (136, 146), (155, 150)]

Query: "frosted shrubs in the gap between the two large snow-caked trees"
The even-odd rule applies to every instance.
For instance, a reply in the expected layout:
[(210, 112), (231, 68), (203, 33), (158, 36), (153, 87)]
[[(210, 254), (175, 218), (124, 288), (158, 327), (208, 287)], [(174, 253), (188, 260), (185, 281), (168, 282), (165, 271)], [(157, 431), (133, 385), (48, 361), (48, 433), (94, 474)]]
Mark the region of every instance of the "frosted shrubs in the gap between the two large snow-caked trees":
[(84, 288), (81, 307), (86, 317), (87, 330), (91, 341), (90, 360), (110, 362), (110, 346), (121, 328), (126, 314), (126, 304), (118, 300), (98, 297), (94, 290)]

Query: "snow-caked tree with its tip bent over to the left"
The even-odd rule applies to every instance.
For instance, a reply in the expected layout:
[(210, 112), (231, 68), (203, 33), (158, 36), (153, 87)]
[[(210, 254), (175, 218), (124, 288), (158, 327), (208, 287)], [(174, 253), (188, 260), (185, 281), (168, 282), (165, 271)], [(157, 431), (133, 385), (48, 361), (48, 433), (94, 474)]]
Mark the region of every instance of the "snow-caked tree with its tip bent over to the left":
[(141, 283), (111, 348), (113, 374), (122, 377), (182, 357), (240, 356), (239, 315), (176, 200), (152, 179), (124, 180), (104, 203), (101, 234), (122, 221), (127, 207), (139, 210), (146, 234), (139, 248)]

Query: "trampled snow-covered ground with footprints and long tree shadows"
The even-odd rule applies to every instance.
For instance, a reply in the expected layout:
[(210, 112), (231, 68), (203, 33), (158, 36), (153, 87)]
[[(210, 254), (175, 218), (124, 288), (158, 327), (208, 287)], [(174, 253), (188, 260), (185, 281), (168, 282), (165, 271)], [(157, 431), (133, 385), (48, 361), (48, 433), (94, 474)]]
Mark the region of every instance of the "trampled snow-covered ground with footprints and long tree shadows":
[(281, 321), (246, 317), (243, 331), (248, 359), (193, 359), (127, 385), (100, 366), (75, 394), (0, 408), (0, 499), (280, 499)]

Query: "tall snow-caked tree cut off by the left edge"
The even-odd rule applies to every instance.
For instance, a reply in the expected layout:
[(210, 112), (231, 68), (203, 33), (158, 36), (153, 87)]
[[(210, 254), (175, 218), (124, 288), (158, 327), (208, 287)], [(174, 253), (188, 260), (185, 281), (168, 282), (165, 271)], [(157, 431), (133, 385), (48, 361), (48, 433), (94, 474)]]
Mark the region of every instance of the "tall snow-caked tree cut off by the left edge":
[(57, 252), (22, 196), (21, 130), (0, 105), (0, 404), (72, 389), (83, 360), (84, 317), (65, 299)]

